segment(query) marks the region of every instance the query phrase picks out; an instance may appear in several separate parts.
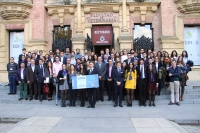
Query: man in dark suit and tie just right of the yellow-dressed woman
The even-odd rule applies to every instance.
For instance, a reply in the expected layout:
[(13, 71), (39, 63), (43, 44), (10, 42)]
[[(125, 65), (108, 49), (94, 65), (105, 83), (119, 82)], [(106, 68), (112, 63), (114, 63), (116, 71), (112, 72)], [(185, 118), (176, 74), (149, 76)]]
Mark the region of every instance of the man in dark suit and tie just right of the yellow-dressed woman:
[(144, 59), (140, 59), (140, 64), (137, 67), (137, 83), (139, 88), (139, 106), (146, 106), (146, 87), (147, 87), (147, 67), (144, 64)]

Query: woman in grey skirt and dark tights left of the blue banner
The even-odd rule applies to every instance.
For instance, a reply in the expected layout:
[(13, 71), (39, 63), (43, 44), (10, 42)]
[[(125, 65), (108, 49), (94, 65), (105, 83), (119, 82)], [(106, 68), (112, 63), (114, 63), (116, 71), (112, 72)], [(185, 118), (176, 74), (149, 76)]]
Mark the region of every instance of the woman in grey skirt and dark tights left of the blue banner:
[(67, 71), (66, 65), (62, 64), (62, 70), (58, 73), (58, 84), (59, 90), (61, 91), (61, 107), (66, 107), (66, 97), (67, 97), (67, 90), (69, 89), (69, 85), (67, 82)]

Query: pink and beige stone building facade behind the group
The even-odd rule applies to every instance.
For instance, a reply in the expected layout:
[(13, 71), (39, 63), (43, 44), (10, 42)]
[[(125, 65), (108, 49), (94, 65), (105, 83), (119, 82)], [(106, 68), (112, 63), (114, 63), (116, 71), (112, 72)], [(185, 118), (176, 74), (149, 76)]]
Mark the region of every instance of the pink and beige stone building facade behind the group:
[[(155, 51), (171, 53), (175, 49), (180, 54), (184, 50), (184, 26), (200, 25), (200, 0), (0, 0), (0, 82), (7, 81), (10, 31), (24, 31), (27, 51), (48, 53), (54, 27), (67, 25), (72, 50), (80, 48), (83, 53), (92, 27), (101, 25), (112, 27), (116, 51), (134, 48), (136, 24), (151, 25)], [(200, 79), (199, 69), (193, 68), (191, 80)]]

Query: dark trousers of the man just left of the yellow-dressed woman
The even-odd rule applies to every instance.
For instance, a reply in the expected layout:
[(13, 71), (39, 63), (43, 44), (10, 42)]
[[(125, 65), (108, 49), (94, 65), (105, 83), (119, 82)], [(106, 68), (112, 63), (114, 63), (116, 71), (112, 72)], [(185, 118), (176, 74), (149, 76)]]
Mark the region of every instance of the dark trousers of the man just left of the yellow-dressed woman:
[(119, 99), (119, 104), (122, 104), (123, 83), (119, 86), (117, 85), (117, 83), (114, 83), (114, 88), (115, 88), (115, 104), (116, 105), (118, 104), (118, 99)]

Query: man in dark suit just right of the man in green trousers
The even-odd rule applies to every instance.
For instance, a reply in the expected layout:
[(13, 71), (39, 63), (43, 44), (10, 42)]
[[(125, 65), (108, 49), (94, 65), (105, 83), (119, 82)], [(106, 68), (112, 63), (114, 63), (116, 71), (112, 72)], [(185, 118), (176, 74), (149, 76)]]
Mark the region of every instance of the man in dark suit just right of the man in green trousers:
[(34, 99), (38, 100), (37, 98), (37, 80), (35, 78), (35, 60), (31, 59), (31, 65), (27, 67), (26, 78), (27, 83), (29, 86), (29, 100), (33, 99), (33, 92), (34, 92)]

